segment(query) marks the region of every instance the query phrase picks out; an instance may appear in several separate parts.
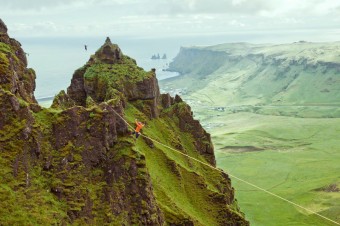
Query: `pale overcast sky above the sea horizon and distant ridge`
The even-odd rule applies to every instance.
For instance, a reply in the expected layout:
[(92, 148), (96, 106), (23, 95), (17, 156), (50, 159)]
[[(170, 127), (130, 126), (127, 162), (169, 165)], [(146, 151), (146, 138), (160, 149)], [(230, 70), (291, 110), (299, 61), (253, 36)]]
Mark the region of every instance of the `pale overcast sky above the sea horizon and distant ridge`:
[(339, 0), (0, 0), (0, 18), (14, 37), (294, 33), (340, 40)]

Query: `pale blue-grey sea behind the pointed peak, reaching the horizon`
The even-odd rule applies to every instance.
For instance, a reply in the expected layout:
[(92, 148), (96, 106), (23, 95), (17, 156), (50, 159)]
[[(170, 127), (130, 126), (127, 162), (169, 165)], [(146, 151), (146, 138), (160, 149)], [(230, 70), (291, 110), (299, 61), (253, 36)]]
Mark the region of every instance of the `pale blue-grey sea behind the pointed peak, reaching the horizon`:
[[(279, 36), (280, 37), (280, 36)], [(283, 37), (283, 36), (282, 36)], [(73, 72), (82, 67), (92, 54), (105, 42), (106, 37), (14, 37), (27, 53), (28, 67), (36, 72), (35, 97), (40, 100), (53, 98), (70, 85)], [(285, 40), (287, 37), (284, 37)], [(206, 34), (198, 36), (173, 37), (122, 37), (110, 36), (111, 42), (118, 44), (123, 54), (134, 58), (137, 64), (148, 71), (156, 69), (158, 80), (177, 76), (164, 71), (177, 55), (181, 46), (205, 46), (228, 42), (280, 41), (272, 34)], [(296, 37), (290, 38), (297, 41)], [(87, 51), (84, 48), (87, 45)], [(152, 60), (152, 55), (167, 55), (165, 60)]]

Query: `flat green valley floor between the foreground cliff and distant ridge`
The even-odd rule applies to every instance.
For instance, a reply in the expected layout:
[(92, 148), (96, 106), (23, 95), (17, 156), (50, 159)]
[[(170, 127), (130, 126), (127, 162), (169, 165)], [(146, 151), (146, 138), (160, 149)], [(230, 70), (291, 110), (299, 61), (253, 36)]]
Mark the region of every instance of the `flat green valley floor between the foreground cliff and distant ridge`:
[[(212, 135), (218, 167), (340, 222), (337, 106), (223, 106), (203, 90), (169, 84), (164, 91), (180, 94)], [(251, 225), (334, 225), (233, 178), (232, 185)]]

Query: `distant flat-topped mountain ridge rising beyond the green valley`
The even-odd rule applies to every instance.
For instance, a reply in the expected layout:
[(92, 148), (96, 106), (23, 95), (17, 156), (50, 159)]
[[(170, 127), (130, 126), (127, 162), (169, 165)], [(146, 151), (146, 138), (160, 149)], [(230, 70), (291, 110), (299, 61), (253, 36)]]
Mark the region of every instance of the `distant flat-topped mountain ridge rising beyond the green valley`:
[(186, 47), (169, 70), (226, 105), (340, 105), (340, 42)]

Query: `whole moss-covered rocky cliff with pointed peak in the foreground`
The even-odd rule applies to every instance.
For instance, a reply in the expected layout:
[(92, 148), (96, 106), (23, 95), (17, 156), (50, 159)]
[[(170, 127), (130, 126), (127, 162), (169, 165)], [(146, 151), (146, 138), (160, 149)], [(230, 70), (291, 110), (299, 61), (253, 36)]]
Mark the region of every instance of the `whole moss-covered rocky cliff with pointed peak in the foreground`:
[(107, 39), (51, 108), (34, 98), (35, 73), (0, 20), (1, 225), (248, 225), (230, 179), (143, 133), (215, 165), (210, 135), (180, 97), (160, 95)]

